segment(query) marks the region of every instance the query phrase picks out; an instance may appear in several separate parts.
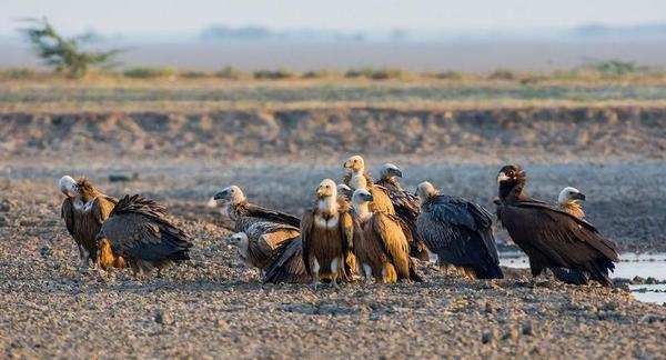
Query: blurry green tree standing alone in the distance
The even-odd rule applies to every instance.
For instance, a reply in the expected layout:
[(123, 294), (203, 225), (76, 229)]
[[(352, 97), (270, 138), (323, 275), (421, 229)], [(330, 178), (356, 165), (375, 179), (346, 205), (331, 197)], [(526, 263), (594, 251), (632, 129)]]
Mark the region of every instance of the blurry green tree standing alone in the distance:
[(21, 29), (37, 54), (58, 72), (64, 72), (72, 78), (85, 76), (91, 66), (110, 68), (118, 63), (114, 58), (122, 52), (119, 49), (108, 51), (81, 50), (83, 42), (90, 41), (91, 34), (63, 38), (53, 26), (46, 19), (27, 19), (31, 26)]

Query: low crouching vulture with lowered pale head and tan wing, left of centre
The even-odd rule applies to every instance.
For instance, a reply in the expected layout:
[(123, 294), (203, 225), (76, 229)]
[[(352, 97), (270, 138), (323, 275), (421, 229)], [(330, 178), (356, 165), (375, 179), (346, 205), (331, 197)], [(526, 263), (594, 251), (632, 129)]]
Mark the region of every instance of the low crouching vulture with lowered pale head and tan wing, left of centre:
[(234, 233), (231, 241), (239, 247), (239, 256), (245, 264), (263, 272), (274, 260), (282, 242), (299, 234), (299, 229), (292, 226), (258, 221), (245, 231)]

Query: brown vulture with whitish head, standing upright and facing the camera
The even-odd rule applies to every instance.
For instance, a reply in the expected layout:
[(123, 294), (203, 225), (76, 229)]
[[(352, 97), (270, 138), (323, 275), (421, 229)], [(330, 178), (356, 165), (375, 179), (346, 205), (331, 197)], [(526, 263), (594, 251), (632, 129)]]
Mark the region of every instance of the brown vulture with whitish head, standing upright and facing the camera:
[(316, 188), (316, 200), (301, 221), (303, 262), (314, 288), (320, 280), (349, 280), (347, 259), (353, 248), (354, 222), (350, 204), (337, 197), (337, 187), (324, 179)]

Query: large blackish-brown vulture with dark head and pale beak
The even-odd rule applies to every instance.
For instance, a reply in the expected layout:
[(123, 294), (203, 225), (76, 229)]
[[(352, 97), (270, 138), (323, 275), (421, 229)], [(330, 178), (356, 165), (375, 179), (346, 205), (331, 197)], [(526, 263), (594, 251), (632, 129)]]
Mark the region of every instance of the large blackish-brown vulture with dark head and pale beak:
[(557, 277), (557, 269), (564, 268), (610, 287), (608, 271), (619, 260), (615, 243), (586, 220), (528, 198), (526, 182), (519, 166), (500, 170), (497, 218), (529, 258), (532, 274), (537, 277), (552, 269)]

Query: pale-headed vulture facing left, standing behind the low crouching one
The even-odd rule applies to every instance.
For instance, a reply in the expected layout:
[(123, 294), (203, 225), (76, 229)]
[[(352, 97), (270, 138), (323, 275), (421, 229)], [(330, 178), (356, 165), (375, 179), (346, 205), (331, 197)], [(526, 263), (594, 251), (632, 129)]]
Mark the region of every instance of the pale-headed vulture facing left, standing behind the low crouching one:
[(284, 223), (295, 228), (301, 226), (301, 220), (285, 212), (262, 208), (251, 203), (245, 198), (241, 188), (231, 186), (215, 193), (214, 200), (226, 202), (226, 214), (234, 221), (234, 231), (245, 231), (256, 221), (271, 221)]

